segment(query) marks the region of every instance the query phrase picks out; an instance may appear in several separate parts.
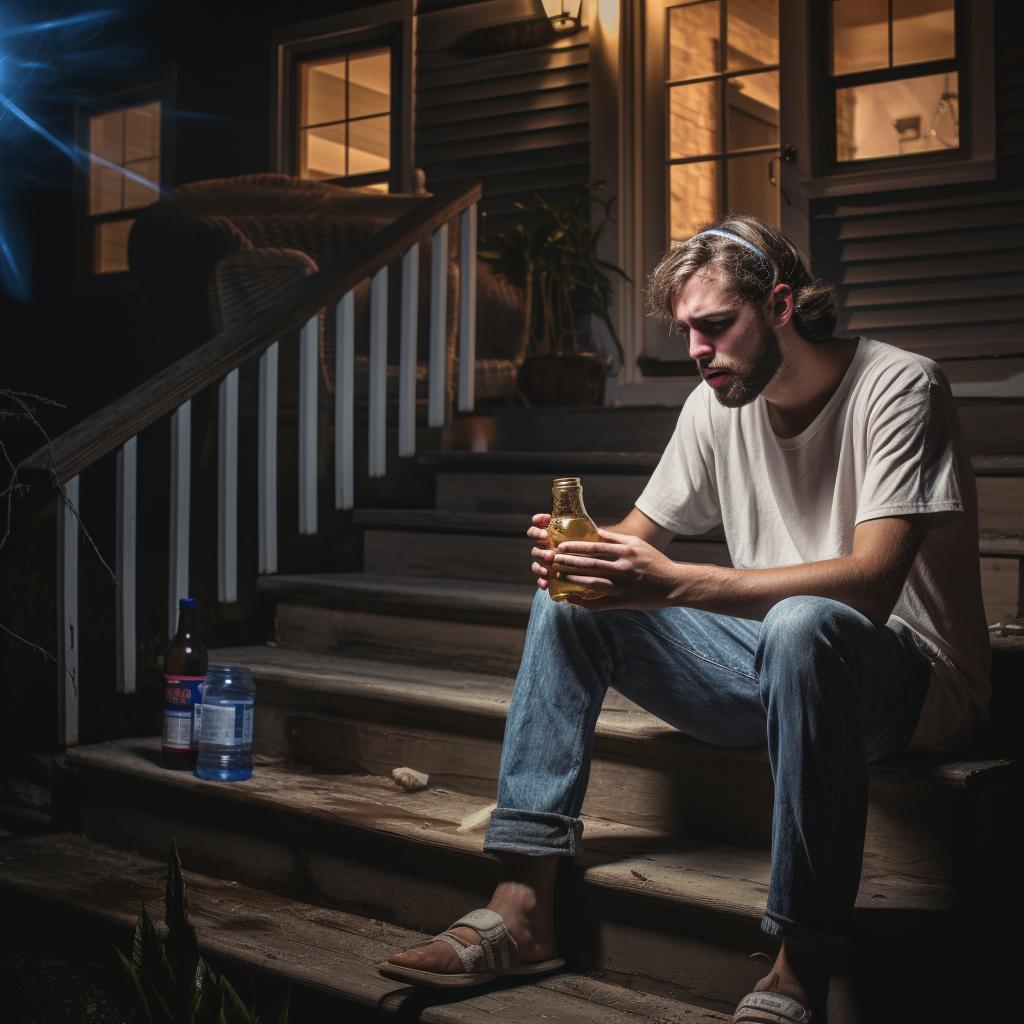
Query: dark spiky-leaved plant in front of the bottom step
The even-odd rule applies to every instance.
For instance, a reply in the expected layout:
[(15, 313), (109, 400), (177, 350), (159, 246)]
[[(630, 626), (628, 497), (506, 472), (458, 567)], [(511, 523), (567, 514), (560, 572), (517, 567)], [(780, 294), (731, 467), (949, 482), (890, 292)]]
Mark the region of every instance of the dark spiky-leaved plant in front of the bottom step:
[(167, 907), (163, 941), (145, 907), (135, 926), (131, 959), (116, 950), (124, 974), (110, 979), (108, 994), (127, 1024), (288, 1024), (286, 992), (262, 1017), (242, 1001), (230, 982), (213, 973), (200, 955), (188, 921), (177, 845), (167, 864)]

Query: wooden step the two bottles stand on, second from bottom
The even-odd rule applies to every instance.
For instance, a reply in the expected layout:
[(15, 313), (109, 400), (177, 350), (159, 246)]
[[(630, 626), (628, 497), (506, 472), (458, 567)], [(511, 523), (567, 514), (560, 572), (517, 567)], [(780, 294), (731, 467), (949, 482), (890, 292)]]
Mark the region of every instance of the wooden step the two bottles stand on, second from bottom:
[[(183, 862), (206, 874), (422, 932), (480, 905), (497, 881), (482, 833), (457, 831), (478, 798), (290, 765), (205, 782), (162, 769), (158, 752), (157, 737), (69, 752), (90, 839), (161, 857), (176, 838)], [(728, 1011), (764, 973), (749, 954), (772, 947), (759, 927), (767, 852), (595, 819), (585, 836), (560, 882), (563, 954), (577, 969)], [(929, 948), (956, 903), (948, 887), (865, 877), (858, 955)], [(843, 995), (849, 981), (837, 985), (835, 1021), (860, 1019)]]

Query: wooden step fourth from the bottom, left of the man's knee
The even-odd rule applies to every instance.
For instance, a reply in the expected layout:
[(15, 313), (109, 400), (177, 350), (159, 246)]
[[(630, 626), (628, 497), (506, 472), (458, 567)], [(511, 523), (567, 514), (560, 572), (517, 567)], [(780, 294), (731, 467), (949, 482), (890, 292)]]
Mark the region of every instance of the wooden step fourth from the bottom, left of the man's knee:
[(354, 657), (514, 676), (532, 583), (366, 572), (265, 575), (281, 643)]

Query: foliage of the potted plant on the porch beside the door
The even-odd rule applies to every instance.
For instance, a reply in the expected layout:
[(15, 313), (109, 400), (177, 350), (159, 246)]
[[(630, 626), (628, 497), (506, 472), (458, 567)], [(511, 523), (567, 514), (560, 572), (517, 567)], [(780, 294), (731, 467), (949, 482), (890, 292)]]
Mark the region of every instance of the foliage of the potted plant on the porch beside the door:
[[(602, 185), (598, 182), (595, 187)], [(531, 354), (561, 354), (566, 347), (581, 351), (577, 317), (592, 313), (608, 328), (622, 362), (623, 346), (608, 312), (614, 293), (605, 271), (625, 281), (629, 278), (597, 256), (601, 233), (612, 222), (614, 199), (597, 199), (589, 185), (581, 185), (557, 206), (540, 196), (535, 198), (532, 210), (516, 204), (525, 216), (512, 231), (481, 239), (480, 258), (525, 290)], [(596, 227), (591, 224), (595, 203), (604, 210)]]

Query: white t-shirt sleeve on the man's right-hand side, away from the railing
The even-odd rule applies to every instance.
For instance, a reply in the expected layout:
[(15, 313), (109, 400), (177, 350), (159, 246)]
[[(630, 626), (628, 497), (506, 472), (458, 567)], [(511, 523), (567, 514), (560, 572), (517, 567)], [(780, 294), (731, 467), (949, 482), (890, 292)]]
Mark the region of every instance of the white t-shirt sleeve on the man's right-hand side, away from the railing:
[(857, 522), (932, 513), (935, 528), (959, 518), (958, 432), (952, 395), (939, 381), (895, 388), (878, 399), (865, 429)]

